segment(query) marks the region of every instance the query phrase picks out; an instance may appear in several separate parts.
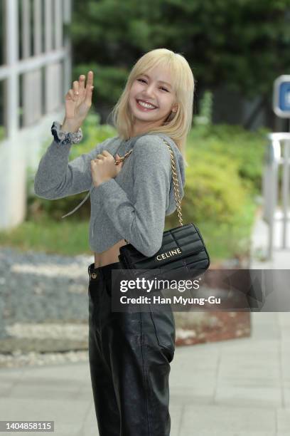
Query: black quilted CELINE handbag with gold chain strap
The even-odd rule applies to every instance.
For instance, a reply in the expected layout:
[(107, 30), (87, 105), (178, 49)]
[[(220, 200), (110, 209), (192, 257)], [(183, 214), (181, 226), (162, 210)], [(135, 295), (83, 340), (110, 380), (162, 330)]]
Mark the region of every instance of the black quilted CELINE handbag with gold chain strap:
[[(163, 142), (171, 152), (171, 170), (173, 176), (174, 195), (180, 226), (163, 232), (162, 245), (154, 256), (144, 256), (132, 244), (125, 239), (127, 245), (119, 248), (119, 262), (123, 269), (128, 269), (132, 278), (140, 274), (138, 270), (151, 271), (154, 276), (188, 276), (194, 278), (210, 266), (210, 256), (203, 242), (198, 227), (192, 222), (183, 225), (181, 212), (181, 199), (178, 187), (178, 177), (176, 174), (175, 157), (171, 146), (163, 139)], [(131, 151), (131, 150), (130, 150)]]

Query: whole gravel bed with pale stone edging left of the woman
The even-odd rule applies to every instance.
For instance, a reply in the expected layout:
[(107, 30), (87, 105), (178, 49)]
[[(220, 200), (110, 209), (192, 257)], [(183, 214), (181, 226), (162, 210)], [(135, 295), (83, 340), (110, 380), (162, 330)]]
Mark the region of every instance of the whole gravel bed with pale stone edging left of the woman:
[(0, 367), (87, 359), (93, 261), (0, 248)]

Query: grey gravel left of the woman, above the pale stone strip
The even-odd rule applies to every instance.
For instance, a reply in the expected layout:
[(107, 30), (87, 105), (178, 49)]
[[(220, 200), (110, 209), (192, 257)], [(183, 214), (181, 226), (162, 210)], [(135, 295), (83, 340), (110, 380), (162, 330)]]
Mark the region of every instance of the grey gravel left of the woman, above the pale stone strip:
[(0, 338), (16, 322), (87, 321), (92, 256), (0, 249)]

